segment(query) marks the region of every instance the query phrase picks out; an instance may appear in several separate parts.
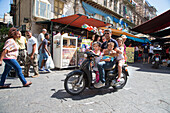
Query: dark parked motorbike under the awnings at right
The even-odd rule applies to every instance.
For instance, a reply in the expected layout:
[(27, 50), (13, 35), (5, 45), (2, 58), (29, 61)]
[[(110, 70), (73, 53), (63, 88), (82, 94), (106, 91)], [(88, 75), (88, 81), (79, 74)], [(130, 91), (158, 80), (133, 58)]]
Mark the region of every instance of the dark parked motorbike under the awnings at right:
[(152, 67), (155, 69), (158, 69), (161, 62), (161, 52), (162, 52), (162, 48), (156, 47), (153, 49), (154, 55), (152, 57)]

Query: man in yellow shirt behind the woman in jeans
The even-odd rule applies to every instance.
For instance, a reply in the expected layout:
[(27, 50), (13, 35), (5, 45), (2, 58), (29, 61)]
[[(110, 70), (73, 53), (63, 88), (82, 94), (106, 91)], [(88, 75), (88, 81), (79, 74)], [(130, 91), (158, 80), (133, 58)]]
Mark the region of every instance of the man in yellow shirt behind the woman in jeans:
[(26, 47), (27, 45), (27, 40), (24, 36), (21, 36), (21, 32), (17, 31), (17, 38), (15, 39), (18, 47), (19, 47), (19, 55), (17, 58), (17, 61), (20, 65), (25, 65), (25, 58), (26, 58)]

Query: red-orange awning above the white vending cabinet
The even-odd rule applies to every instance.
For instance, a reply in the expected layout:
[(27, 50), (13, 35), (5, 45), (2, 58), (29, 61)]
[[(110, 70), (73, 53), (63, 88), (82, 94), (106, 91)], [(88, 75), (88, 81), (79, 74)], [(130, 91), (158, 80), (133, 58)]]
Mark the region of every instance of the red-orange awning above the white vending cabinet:
[(61, 24), (69, 24), (70, 26), (79, 27), (79, 28), (81, 28), (81, 26), (84, 24), (93, 27), (104, 27), (109, 25), (109, 23), (105, 23), (103, 21), (94, 18), (88, 18), (87, 16), (82, 14), (75, 14), (67, 17), (58, 18), (58, 19), (51, 19), (51, 21), (61, 23)]

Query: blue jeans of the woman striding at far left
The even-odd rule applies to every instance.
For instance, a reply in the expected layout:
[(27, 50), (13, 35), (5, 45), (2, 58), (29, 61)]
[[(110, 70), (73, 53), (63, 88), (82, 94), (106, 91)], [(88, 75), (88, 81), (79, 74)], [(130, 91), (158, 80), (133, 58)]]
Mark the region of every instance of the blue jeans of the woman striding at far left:
[(22, 74), (22, 68), (19, 65), (19, 63), (17, 62), (17, 60), (16, 59), (4, 59), (3, 61), (5, 62), (5, 68), (4, 68), (4, 72), (1, 75), (0, 86), (4, 85), (5, 79), (8, 76), (8, 73), (10, 72), (12, 67), (15, 69), (15, 71), (16, 71), (19, 79), (21, 80), (22, 84), (25, 85), (27, 83), (27, 81), (25, 80), (25, 77)]

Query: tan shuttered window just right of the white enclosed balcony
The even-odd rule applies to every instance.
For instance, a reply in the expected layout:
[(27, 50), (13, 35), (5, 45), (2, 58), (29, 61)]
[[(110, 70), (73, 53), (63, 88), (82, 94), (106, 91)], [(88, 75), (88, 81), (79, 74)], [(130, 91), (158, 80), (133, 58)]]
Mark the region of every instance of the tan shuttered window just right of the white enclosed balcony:
[(64, 3), (61, 2), (60, 0), (55, 0), (54, 12), (57, 18), (61, 17), (61, 15), (63, 14), (63, 8), (64, 8)]

